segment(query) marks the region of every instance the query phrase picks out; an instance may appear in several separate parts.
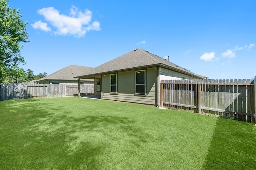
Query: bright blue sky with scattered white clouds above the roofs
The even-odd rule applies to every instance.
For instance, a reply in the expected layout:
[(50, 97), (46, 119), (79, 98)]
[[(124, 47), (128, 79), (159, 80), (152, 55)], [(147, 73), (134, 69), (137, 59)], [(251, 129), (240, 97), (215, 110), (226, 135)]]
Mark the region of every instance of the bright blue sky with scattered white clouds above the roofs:
[(10, 0), (28, 21), (20, 68), (96, 67), (136, 48), (211, 79), (256, 76), (255, 0)]

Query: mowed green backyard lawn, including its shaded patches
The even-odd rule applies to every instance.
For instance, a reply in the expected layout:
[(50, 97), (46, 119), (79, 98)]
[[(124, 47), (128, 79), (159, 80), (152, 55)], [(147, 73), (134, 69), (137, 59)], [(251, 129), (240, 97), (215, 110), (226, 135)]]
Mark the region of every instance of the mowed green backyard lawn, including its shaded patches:
[(6, 100), (0, 169), (254, 170), (256, 127), (107, 100)]

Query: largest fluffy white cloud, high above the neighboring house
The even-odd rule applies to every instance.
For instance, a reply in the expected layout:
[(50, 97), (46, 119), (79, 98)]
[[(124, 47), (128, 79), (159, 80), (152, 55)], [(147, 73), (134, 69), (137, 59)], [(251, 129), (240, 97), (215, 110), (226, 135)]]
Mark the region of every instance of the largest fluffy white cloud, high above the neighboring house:
[(72, 6), (70, 16), (60, 14), (59, 11), (53, 7), (42, 8), (37, 12), (44, 16), (45, 20), (54, 27), (55, 35), (75, 35), (77, 37), (83, 37), (86, 32), (90, 30), (100, 30), (100, 23), (98, 21), (91, 23), (92, 12), (89, 10), (81, 12), (77, 7)]

